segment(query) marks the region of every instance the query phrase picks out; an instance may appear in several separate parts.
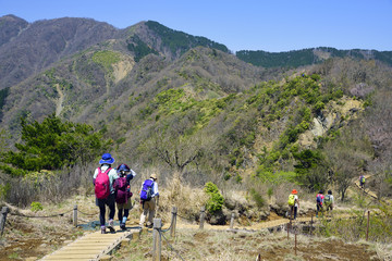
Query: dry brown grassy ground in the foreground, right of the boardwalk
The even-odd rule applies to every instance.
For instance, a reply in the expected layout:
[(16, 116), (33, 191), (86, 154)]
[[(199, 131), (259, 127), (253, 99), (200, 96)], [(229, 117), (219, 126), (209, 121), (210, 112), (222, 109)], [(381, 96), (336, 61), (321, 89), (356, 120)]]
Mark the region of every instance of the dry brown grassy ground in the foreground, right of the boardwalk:
[[(217, 231), (177, 229), (176, 237), (162, 238), (162, 260), (206, 260), (232, 261), (256, 260), (390, 260), (383, 246), (351, 244), (336, 238), (297, 236), (295, 253), (294, 235), (287, 240), (285, 233), (270, 234), (266, 231), (256, 233), (229, 233)], [(170, 244), (170, 246), (169, 246)], [(151, 236), (143, 234), (139, 241), (118, 250), (113, 260), (150, 259)], [(173, 248), (173, 249), (172, 249)], [(179, 257), (181, 256), (181, 258)]]

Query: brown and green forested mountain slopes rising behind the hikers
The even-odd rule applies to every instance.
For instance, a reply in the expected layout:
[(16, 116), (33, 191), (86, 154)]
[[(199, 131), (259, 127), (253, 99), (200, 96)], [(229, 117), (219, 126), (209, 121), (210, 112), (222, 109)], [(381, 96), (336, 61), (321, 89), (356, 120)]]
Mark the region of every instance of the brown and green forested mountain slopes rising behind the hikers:
[(151, 21), (117, 29), (85, 18), (1, 20), (14, 21), (3, 23), (0, 46), (1, 127), (12, 150), (23, 148), (21, 119), (37, 125), (54, 115), (91, 125), (107, 150), (162, 177), (283, 178), (310, 190), (334, 179), (342, 197), (345, 181), (390, 153), (390, 126), (376, 115), (390, 111), (391, 67), (375, 52), (358, 60), (318, 49), (327, 54), (309, 66), (299, 66), (308, 51), (298, 52), (299, 67), (289, 71), (273, 57), (266, 55), (273, 69), (252, 65), (221, 44)]

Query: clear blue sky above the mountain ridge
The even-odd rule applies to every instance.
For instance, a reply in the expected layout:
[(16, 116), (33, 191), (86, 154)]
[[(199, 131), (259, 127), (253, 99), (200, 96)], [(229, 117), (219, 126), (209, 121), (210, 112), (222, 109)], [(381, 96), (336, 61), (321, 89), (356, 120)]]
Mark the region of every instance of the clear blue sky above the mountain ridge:
[(152, 20), (232, 51), (392, 51), (392, 0), (0, 0), (5, 14), (30, 23), (89, 17), (118, 28)]

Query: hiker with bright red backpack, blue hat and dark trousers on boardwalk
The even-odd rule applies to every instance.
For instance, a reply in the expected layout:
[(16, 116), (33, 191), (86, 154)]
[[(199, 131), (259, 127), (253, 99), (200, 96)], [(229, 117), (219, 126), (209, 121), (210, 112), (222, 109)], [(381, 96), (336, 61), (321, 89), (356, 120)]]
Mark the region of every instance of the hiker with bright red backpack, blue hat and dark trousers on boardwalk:
[(94, 186), (96, 194), (96, 204), (99, 207), (99, 222), (101, 226), (101, 233), (106, 234), (105, 214), (106, 206), (109, 207), (109, 222), (108, 228), (111, 233), (114, 231), (114, 189), (113, 183), (119, 176), (117, 171), (111, 167), (114, 163), (114, 158), (110, 153), (103, 153), (102, 159), (99, 161), (100, 167), (97, 167), (94, 172)]

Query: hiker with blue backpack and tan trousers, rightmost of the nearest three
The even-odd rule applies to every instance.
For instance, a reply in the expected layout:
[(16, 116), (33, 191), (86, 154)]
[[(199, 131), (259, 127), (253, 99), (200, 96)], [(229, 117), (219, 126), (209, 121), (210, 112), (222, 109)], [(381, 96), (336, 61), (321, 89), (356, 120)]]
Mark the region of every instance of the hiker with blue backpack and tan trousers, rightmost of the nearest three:
[(143, 213), (140, 215), (139, 226), (143, 227), (146, 216), (148, 214), (147, 227), (152, 227), (152, 219), (156, 212), (156, 207), (158, 207), (159, 192), (158, 192), (158, 183), (157, 175), (151, 174), (148, 179), (146, 179), (140, 188), (140, 206), (143, 208)]

